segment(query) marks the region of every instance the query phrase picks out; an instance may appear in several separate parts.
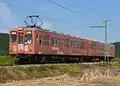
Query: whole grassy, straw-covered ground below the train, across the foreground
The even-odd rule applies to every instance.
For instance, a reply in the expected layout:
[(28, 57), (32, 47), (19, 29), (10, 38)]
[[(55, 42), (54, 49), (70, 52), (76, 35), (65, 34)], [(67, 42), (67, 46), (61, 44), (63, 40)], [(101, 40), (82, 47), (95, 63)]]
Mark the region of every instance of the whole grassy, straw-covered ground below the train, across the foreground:
[(0, 82), (0, 86), (120, 86), (120, 68), (78, 64), (1, 68)]

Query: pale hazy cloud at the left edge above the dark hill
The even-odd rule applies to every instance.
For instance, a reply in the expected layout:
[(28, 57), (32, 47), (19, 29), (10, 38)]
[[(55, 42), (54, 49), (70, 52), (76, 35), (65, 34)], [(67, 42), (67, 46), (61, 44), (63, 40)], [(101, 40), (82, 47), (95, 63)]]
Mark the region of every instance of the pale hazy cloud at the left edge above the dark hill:
[(8, 32), (10, 28), (17, 25), (11, 9), (5, 3), (0, 3), (0, 23), (2, 24), (1, 28), (4, 28), (4, 30), (1, 30), (2, 32)]

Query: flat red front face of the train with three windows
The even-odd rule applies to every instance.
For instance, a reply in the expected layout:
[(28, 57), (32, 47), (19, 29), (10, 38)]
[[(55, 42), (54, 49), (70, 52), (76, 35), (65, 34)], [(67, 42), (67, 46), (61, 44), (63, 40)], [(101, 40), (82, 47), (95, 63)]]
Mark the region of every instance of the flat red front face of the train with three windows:
[(34, 53), (34, 33), (31, 28), (12, 29), (9, 33), (9, 53), (10, 54), (33, 54)]

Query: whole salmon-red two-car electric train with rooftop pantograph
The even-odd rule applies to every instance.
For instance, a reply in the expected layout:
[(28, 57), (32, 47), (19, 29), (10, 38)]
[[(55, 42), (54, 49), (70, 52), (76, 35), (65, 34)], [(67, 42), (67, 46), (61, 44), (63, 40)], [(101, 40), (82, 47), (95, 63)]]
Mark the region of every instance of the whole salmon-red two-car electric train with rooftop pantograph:
[[(33, 19), (39, 16), (28, 16)], [(26, 21), (25, 21), (26, 22)], [(9, 54), (20, 62), (95, 62), (104, 61), (105, 43), (49, 31), (37, 23), (12, 28), (9, 32)], [(115, 47), (107, 44), (107, 58), (115, 57)]]

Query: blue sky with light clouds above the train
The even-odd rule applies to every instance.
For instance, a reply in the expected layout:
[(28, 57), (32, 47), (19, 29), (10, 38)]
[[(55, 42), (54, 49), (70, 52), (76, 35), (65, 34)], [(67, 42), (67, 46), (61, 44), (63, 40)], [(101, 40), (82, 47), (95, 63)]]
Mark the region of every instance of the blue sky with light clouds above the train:
[(103, 25), (102, 21), (108, 19), (108, 42), (120, 41), (120, 0), (52, 0), (85, 16), (63, 9), (48, 0), (0, 1), (4, 2), (0, 2), (0, 32), (24, 26), (26, 16), (38, 14), (45, 29), (104, 41), (105, 29), (90, 26)]

